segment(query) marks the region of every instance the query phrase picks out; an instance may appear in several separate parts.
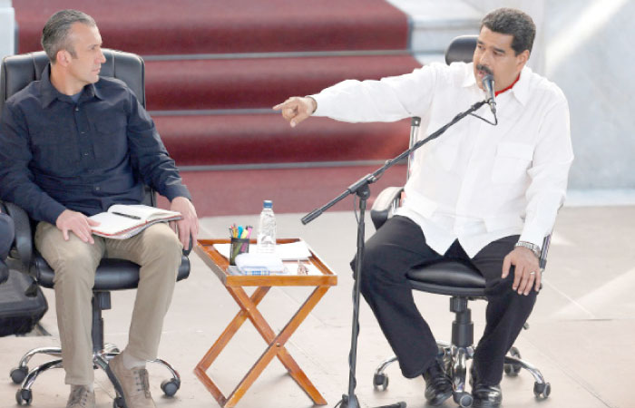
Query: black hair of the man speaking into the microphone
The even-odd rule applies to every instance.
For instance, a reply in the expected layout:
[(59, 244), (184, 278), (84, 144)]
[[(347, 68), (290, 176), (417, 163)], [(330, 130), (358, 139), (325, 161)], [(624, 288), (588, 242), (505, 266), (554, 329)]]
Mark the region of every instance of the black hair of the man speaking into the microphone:
[(484, 16), (481, 29), (484, 26), (494, 33), (512, 34), (512, 48), (516, 55), (524, 50), (532, 53), (536, 24), (528, 14), (513, 8), (498, 8)]

